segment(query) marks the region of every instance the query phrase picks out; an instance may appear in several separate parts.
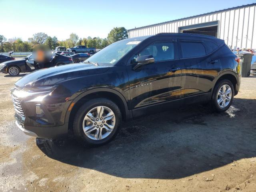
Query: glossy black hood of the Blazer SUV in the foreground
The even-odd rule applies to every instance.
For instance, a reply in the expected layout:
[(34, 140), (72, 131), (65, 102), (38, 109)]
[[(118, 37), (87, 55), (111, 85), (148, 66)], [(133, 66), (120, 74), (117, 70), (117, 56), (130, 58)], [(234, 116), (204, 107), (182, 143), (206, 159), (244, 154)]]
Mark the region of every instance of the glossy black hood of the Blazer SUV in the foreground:
[(15, 85), (18, 87), (49, 86), (60, 81), (91, 74), (106, 72), (109, 66), (94, 66), (93, 64), (68, 64), (57, 67), (37, 70), (18, 80)]

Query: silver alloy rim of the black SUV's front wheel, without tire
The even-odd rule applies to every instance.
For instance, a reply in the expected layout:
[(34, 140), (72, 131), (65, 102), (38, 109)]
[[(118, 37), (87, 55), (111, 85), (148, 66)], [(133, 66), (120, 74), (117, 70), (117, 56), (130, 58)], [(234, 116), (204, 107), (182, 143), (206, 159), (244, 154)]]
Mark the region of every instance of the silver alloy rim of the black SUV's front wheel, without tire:
[(84, 117), (84, 134), (92, 140), (102, 140), (111, 134), (115, 123), (115, 114), (110, 108), (94, 107)]

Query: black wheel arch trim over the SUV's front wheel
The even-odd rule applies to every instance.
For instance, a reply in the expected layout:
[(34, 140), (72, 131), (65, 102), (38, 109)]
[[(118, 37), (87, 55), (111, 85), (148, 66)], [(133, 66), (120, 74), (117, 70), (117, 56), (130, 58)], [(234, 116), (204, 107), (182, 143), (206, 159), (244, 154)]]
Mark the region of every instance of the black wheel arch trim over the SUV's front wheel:
[[(132, 118), (132, 112), (128, 110), (127, 102), (124, 96), (120, 92), (112, 88), (95, 88), (95, 89), (83, 92), (82, 94), (77, 96), (70, 104), (70, 106), (71, 105), (74, 105), (74, 106), (70, 111), (68, 110), (66, 113), (65, 121), (68, 122), (69, 124), (68, 129), (72, 128), (74, 116), (76, 112), (79, 110), (79, 108), (82, 106), (82, 104), (92, 98), (109, 99), (120, 108), (123, 120), (128, 120)], [(68, 108), (70, 108), (70, 106)]]

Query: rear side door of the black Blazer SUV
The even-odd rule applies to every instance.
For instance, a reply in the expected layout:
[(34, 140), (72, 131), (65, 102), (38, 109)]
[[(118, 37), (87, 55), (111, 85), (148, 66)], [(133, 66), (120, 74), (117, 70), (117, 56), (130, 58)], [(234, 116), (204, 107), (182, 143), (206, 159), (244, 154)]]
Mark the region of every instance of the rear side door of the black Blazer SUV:
[[(187, 42), (186, 42), (187, 43)], [(182, 70), (182, 83), (181, 83), (181, 96), (190, 96), (195, 94), (202, 94), (210, 92), (213, 85), (213, 81), (220, 71), (220, 62), (214, 54), (200, 52), (200, 46), (203, 42), (188, 42), (190, 44), (184, 44), (185, 49), (182, 49), (180, 44), (181, 56), (192, 56), (193, 54), (197, 57), (182, 58), (180, 61), (184, 65)], [(201, 45), (196, 45), (200, 43)], [(194, 45), (193, 45), (194, 44)], [(191, 46), (189, 48), (189, 46)], [(197, 48), (197, 46), (199, 48)], [(202, 50), (201, 50), (202, 51)], [(186, 53), (185, 53), (186, 52)], [(190, 53), (189, 53), (190, 52)], [(194, 53), (193, 53), (194, 52)], [(211, 62), (214, 60), (215, 62)]]

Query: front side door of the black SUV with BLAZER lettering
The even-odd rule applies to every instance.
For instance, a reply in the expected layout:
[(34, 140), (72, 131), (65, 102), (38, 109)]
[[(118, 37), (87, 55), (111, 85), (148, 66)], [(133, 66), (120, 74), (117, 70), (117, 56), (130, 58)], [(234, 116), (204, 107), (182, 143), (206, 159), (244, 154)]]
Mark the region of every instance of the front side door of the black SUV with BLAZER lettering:
[[(168, 51), (168, 46), (161, 46), (161, 48)], [(176, 48), (175, 42), (172, 49), (177, 52)], [(162, 53), (160, 53), (159, 49), (158, 51), (152, 50), (149, 52), (143, 50), (139, 55), (152, 55), (156, 60), (154, 63), (140, 66), (136, 70), (133, 69), (136, 64), (127, 65), (131, 109), (180, 97), (181, 70), (183, 67), (180, 66), (179, 60), (175, 59), (176, 54), (170, 54), (170, 58), (167, 58), (169, 60), (165, 60), (164, 57), (167, 52), (161, 50)]]

